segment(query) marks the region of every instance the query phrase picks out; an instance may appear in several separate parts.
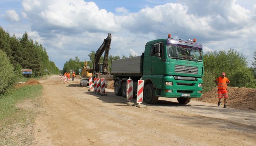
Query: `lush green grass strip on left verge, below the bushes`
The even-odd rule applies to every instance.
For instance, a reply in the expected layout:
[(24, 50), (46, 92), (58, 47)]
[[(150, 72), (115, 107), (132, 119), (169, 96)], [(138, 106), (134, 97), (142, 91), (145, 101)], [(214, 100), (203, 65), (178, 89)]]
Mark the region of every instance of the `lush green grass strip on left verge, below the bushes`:
[(16, 104), (25, 99), (34, 99), (42, 94), (42, 85), (25, 86), (9, 90), (0, 97), (0, 121), (16, 112)]

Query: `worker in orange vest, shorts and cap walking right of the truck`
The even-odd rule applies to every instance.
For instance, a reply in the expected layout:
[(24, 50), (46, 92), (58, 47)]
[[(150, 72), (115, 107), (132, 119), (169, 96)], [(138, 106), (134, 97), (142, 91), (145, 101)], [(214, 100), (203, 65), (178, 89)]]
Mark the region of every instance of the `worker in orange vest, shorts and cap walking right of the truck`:
[(216, 78), (215, 84), (218, 86), (218, 106), (220, 105), (220, 100), (224, 97), (224, 108), (226, 108), (226, 99), (228, 98), (227, 85), (230, 83), (229, 79), (225, 77), (225, 72), (222, 72), (221, 76)]

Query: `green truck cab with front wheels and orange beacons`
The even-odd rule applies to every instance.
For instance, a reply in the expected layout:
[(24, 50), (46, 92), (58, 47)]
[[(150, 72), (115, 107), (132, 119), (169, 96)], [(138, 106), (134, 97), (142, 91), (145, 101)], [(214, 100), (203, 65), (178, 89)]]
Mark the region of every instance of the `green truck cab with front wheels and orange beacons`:
[(145, 101), (156, 103), (158, 97), (169, 97), (186, 104), (201, 97), (203, 70), (203, 49), (196, 39), (147, 42), (142, 76)]

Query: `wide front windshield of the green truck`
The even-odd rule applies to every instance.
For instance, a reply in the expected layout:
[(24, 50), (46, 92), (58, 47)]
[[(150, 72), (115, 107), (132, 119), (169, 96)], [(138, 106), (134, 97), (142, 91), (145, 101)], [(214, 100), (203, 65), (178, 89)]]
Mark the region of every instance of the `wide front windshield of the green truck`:
[(202, 49), (186, 45), (167, 44), (169, 58), (202, 62)]

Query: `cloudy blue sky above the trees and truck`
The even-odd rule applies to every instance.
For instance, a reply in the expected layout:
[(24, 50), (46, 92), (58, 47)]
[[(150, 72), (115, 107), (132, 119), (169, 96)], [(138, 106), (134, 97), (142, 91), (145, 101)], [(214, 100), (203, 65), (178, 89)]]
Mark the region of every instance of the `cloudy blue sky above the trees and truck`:
[(256, 50), (255, 0), (0, 0), (0, 26), (46, 47), (62, 70), (112, 35), (110, 54), (142, 55), (146, 42), (193, 39), (204, 52), (232, 48), (252, 66)]

